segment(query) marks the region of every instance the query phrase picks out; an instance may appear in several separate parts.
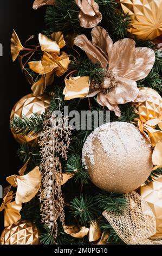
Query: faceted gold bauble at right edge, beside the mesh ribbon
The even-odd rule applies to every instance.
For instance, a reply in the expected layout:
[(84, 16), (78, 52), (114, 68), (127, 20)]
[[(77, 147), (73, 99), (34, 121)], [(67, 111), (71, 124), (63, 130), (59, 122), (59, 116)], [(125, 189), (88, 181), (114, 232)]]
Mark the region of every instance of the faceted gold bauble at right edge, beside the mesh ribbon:
[(141, 197), (150, 205), (157, 222), (157, 232), (153, 237), (162, 238), (162, 176), (140, 188)]

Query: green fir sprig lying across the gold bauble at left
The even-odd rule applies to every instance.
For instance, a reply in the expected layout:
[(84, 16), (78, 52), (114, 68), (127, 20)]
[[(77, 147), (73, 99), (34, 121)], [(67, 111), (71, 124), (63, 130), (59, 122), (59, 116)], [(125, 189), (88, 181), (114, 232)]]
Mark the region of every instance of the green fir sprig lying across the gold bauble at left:
[(42, 131), (43, 121), (44, 114), (33, 113), (30, 118), (25, 117), (25, 115), (22, 118), (15, 117), (11, 120), (10, 127), (16, 134), (27, 136), (32, 132), (31, 136), (34, 136)]

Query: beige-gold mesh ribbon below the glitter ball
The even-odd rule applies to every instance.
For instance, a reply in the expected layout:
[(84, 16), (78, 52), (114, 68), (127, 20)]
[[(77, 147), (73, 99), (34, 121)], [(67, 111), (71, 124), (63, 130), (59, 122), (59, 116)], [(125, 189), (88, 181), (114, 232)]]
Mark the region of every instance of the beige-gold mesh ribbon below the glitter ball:
[(148, 204), (136, 192), (125, 194), (127, 208), (117, 215), (104, 211), (102, 215), (127, 245), (162, 245), (162, 240), (151, 239), (156, 232), (155, 216)]

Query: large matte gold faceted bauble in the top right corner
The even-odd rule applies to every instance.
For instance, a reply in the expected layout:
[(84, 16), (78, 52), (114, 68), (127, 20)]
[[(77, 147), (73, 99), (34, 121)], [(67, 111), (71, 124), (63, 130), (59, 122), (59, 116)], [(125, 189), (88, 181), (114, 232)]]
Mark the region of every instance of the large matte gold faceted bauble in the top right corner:
[(122, 10), (132, 17), (128, 31), (142, 40), (162, 34), (162, 0), (120, 0)]

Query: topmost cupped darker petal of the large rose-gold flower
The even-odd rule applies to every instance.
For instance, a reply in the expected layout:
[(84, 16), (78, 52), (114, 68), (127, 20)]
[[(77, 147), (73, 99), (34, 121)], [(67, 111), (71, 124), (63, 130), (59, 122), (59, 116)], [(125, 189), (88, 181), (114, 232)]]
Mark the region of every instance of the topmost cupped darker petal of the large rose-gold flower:
[(107, 60), (110, 59), (113, 51), (113, 41), (108, 32), (104, 28), (98, 26), (92, 29), (91, 35), (92, 44), (100, 48)]

